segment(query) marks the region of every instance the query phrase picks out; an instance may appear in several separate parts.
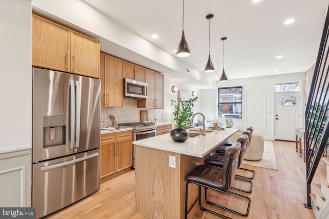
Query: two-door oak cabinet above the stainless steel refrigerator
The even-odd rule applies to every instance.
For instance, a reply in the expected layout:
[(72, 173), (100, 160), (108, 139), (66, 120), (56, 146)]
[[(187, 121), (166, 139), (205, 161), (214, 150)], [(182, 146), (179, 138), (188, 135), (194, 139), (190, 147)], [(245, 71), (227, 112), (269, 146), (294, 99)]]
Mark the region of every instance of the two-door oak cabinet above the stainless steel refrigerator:
[(99, 41), (32, 14), (32, 65), (99, 78)]

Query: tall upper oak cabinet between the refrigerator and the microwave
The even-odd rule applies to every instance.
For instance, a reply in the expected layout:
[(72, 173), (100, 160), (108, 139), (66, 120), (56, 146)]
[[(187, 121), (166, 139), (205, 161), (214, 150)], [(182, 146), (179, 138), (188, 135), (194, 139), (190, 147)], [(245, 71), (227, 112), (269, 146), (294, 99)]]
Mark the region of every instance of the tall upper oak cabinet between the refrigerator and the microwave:
[(122, 60), (100, 53), (102, 107), (123, 107)]

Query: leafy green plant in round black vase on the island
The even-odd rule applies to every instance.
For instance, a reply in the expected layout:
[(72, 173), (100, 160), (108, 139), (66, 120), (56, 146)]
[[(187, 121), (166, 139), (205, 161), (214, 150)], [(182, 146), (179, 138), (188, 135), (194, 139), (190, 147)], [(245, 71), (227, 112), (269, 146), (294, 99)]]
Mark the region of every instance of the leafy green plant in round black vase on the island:
[(182, 101), (181, 98), (177, 98), (177, 101), (171, 100), (171, 106), (175, 107), (173, 117), (176, 122), (176, 129), (170, 132), (170, 137), (175, 142), (185, 142), (188, 140), (189, 133), (186, 129), (191, 126), (192, 107), (196, 100), (197, 96), (187, 101)]

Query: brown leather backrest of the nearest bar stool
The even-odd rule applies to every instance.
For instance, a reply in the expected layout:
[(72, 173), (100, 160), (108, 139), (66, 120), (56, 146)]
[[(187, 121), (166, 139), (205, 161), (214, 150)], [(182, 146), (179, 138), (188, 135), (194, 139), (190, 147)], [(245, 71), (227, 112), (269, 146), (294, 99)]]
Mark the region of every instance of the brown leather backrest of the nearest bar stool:
[[(230, 187), (234, 180), (236, 170), (239, 167), (239, 155), (241, 151), (241, 143), (234, 142), (231, 147), (225, 151), (223, 163), (223, 184), (226, 183), (227, 188)], [(232, 162), (230, 162), (232, 161)], [(230, 166), (231, 165), (231, 166)]]

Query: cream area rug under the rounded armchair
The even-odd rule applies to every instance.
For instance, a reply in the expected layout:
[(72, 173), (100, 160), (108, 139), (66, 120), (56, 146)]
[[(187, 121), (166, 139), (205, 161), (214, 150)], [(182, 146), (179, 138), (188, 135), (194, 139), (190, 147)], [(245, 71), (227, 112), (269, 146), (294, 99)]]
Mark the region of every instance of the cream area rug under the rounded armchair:
[(264, 141), (263, 157), (259, 161), (246, 161), (242, 164), (251, 165), (255, 167), (262, 167), (272, 170), (278, 170), (276, 152), (271, 141)]

